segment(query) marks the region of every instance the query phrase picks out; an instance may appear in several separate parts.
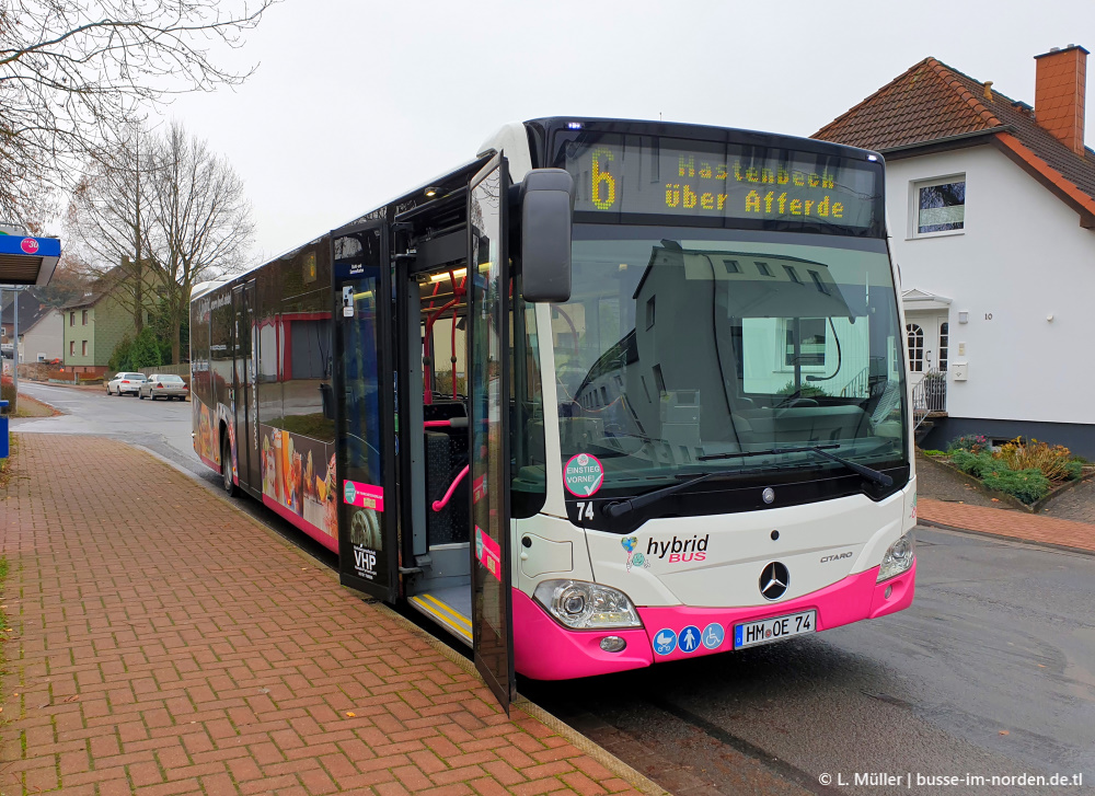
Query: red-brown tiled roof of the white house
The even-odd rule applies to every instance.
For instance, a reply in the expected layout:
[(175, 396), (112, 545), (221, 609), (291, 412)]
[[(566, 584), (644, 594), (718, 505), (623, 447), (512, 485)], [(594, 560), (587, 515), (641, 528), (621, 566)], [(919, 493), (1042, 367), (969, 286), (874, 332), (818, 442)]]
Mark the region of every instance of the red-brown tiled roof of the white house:
[(1039, 127), (1029, 109), (991, 93), (987, 100), (983, 83), (925, 58), (811, 138), (885, 153), (984, 134), (1074, 209), (1095, 216), (1095, 152), (1085, 148), (1076, 154)]

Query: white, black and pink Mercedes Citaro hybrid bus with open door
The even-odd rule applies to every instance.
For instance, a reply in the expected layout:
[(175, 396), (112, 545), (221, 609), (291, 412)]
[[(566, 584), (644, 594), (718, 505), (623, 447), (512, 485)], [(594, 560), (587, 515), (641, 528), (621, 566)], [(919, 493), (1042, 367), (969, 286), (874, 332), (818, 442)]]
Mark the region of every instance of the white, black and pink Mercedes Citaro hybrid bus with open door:
[[(408, 168), (413, 168), (408, 163)], [(195, 448), (504, 704), (912, 602), (878, 154), (543, 118), (191, 309)]]

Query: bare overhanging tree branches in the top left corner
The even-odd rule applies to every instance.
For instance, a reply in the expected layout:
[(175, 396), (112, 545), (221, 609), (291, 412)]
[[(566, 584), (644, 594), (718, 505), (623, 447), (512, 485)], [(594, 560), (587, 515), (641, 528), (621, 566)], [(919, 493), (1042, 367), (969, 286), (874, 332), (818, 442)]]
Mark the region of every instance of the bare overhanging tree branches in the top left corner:
[(276, 0), (0, 1), (0, 218), (33, 220), (51, 188), (140, 108), (238, 84), (216, 50)]

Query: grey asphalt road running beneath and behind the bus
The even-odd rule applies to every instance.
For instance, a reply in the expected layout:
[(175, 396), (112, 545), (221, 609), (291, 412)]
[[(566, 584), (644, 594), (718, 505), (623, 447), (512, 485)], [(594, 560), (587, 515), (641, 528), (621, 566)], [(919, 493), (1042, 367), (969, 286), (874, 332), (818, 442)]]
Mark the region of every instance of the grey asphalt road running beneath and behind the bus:
[[(15, 420), (18, 430), (111, 435), (217, 488), (191, 448), (189, 403), (21, 389), (69, 414)], [(309, 546), (255, 501), (238, 505)], [(927, 529), (918, 539), (917, 599), (900, 614), (611, 678), (520, 680), (519, 690), (689, 796), (1081, 792), (977, 786), (967, 774), (1083, 774), (1093, 789), (1095, 556)], [(902, 780), (856, 785), (856, 774)], [(918, 775), (958, 780), (931, 786)]]

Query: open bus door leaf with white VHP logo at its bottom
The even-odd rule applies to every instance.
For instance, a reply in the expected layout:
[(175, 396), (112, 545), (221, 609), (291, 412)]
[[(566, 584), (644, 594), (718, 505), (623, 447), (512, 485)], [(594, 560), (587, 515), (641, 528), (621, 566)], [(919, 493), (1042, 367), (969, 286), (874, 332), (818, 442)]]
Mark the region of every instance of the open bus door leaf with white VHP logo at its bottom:
[(333, 404), (337, 429), (338, 572), (343, 585), (394, 602), (397, 423), (387, 226), (355, 224), (331, 239), (335, 378), (323, 403), (325, 412)]

